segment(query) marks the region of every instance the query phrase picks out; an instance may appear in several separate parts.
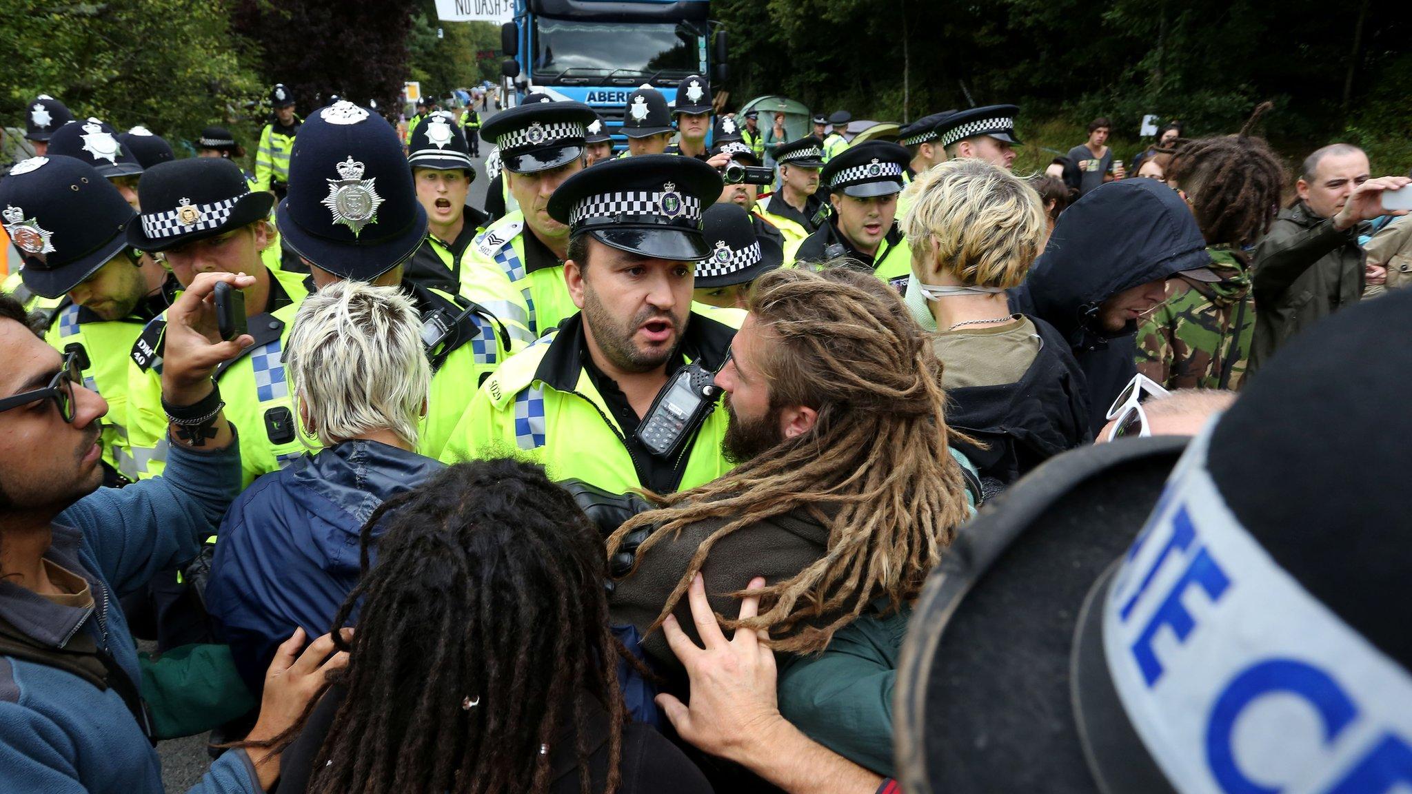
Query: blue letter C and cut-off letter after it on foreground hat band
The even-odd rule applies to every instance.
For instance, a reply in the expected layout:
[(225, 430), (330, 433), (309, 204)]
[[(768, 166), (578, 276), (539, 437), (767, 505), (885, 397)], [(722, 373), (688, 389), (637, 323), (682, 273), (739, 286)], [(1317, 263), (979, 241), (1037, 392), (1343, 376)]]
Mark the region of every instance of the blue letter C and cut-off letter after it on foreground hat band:
[[(1353, 698), (1332, 675), (1309, 663), (1269, 658), (1247, 667), (1216, 698), (1206, 725), (1206, 763), (1227, 794), (1284, 791), (1247, 777), (1231, 743), (1241, 713), (1269, 695), (1293, 695), (1309, 704), (1323, 728), (1324, 747), (1332, 747), (1358, 718)], [(1299, 753), (1299, 747), (1289, 747), (1291, 757)], [(1385, 794), (1399, 784), (1412, 784), (1412, 746), (1399, 736), (1384, 733), (1324, 794)]]

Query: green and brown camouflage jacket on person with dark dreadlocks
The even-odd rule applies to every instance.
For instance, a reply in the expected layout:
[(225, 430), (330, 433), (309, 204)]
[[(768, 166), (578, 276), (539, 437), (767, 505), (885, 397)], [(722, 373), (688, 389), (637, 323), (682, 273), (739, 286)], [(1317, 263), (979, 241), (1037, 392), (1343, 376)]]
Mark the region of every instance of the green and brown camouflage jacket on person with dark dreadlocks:
[(1240, 389), (1255, 333), (1250, 259), (1207, 249), (1216, 283), (1176, 277), (1138, 326), (1138, 372), (1168, 389)]

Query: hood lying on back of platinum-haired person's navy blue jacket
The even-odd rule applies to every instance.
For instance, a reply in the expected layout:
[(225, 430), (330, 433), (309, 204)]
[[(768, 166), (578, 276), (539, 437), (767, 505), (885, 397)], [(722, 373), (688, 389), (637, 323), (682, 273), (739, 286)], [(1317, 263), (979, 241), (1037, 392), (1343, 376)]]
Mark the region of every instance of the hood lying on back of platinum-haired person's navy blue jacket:
[[(289, 468), (294, 469), (289, 500), (312, 521), (330, 528), (313, 531), (311, 538), (325, 547), (335, 568), (352, 565), (357, 574), (357, 534), (373, 511), (426, 482), (445, 463), (377, 441), (357, 439), (306, 455)], [(347, 545), (349, 534), (352, 547)]]

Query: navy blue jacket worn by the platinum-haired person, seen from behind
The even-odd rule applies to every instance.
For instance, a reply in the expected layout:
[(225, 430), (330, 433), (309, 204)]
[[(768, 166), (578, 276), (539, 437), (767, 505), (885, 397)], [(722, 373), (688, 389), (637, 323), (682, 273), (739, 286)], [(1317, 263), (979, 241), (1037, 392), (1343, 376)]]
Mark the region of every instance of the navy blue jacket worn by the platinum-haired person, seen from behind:
[(442, 463), (376, 441), (345, 441), (257, 479), (220, 524), (206, 608), (257, 694), (280, 643), (325, 634), (359, 579), (359, 530), (383, 502)]

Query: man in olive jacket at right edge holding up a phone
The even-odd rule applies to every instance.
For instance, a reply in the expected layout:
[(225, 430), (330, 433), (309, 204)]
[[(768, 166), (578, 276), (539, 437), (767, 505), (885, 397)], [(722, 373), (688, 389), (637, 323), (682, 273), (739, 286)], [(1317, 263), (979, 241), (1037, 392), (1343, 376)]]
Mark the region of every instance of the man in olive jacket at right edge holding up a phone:
[[(1372, 178), (1368, 155), (1356, 146), (1332, 144), (1305, 158), (1295, 181), (1298, 198), (1279, 212), (1255, 249), (1255, 340), (1247, 373), (1324, 316), (1357, 302), (1364, 290), (1358, 233), (1381, 215), (1406, 215), (1408, 177)], [(1396, 192), (1392, 192), (1396, 191)]]

